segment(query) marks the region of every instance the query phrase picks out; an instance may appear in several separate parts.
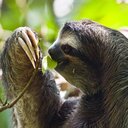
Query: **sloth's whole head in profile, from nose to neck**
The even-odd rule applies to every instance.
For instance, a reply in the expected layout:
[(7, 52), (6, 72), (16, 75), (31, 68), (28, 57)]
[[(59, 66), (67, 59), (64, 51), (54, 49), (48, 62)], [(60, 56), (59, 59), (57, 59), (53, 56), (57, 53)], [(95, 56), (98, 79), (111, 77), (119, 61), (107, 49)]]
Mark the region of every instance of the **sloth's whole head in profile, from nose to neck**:
[(100, 88), (104, 52), (116, 33), (90, 20), (66, 23), (48, 51), (58, 63), (56, 71), (86, 93), (95, 93)]

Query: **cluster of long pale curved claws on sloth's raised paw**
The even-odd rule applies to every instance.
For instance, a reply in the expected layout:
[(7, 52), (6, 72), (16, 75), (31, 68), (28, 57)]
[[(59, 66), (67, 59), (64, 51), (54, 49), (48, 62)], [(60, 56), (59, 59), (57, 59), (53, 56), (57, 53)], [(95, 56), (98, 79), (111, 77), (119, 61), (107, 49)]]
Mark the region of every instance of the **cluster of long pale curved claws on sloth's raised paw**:
[(18, 43), (21, 45), (31, 61), (32, 66), (35, 68), (36, 62), (39, 59), (38, 38), (29, 28), (26, 27), (21, 28), (21, 31), (17, 33), (17, 36)]

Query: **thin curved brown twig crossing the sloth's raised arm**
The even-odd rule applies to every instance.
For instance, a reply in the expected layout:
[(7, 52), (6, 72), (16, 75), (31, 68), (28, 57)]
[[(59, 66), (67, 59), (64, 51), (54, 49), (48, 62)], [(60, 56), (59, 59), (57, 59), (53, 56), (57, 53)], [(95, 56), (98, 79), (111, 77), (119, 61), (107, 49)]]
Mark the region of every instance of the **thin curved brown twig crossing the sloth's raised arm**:
[(31, 76), (31, 78), (29, 79), (28, 83), (25, 85), (24, 89), (22, 90), (22, 92), (14, 100), (12, 100), (10, 103), (7, 103), (4, 106), (0, 107), (0, 112), (13, 107), (17, 103), (17, 101), (24, 95), (26, 90), (30, 87), (32, 80), (36, 76), (37, 71), (38, 71), (38, 64), (37, 64), (36, 68), (34, 69), (33, 74)]

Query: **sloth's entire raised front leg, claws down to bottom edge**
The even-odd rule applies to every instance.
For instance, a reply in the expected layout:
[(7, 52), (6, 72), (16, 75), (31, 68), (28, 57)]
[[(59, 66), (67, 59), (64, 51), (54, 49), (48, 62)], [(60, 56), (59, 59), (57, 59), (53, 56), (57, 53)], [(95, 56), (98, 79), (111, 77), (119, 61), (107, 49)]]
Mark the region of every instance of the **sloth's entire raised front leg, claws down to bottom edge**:
[(50, 72), (42, 74), (41, 59), (38, 37), (28, 27), (18, 28), (5, 43), (1, 67), (10, 99), (19, 95), (39, 65), (29, 89), (13, 108), (16, 128), (48, 128), (60, 107), (54, 78)]

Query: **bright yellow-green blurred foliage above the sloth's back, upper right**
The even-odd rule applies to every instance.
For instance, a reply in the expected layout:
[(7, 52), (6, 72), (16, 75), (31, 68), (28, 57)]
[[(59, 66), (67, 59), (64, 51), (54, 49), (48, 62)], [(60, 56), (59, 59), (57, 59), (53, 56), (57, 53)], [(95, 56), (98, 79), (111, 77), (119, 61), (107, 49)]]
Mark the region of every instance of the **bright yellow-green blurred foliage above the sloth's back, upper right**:
[(86, 17), (115, 29), (128, 26), (128, 4), (119, 4), (116, 0), (86, 0), (79, 8), (74, 8), (74, 11), (77, 16), (72, 11), (73, 19)]

